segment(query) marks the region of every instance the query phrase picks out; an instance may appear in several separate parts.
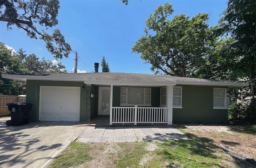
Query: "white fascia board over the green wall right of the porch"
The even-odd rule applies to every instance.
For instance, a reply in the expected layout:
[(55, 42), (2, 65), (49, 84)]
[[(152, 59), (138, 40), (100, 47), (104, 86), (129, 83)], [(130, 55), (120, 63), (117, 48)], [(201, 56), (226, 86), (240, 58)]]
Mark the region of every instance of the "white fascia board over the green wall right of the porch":
[(248, 83), (242, 82), (191, 82), (191, 81), (177, 81), (177, 84), (184, 85), (200, 85), (200, 86), (227, 86), (229, 88), (246, 87)]

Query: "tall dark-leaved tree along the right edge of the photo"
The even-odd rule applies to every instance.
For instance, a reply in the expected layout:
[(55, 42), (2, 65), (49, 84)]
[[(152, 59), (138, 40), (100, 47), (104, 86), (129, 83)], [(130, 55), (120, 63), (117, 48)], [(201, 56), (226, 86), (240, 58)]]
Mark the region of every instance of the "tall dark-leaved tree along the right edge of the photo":
[(256, 118), (256, 0), (229, 0), (220, 21), (221, 35), (234, 38), (229, 48), (239, 61), (233, 66), (237, 78), (250, 82), (249, 93)]

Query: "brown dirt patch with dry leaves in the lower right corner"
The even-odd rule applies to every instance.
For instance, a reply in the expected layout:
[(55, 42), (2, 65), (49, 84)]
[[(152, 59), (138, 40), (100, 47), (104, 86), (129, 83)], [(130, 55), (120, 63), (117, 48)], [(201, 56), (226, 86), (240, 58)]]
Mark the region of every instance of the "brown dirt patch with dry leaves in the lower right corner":
[[(237, 167), (256, 166), (256, 135), (231, 131), (236, 126), (186, 126), (186, 131), (198, 137), (206, 137), (213, 141), (219, 150), (226, 152), (225, 162)], [(235, 129), (232, 129), (235, 130)]]

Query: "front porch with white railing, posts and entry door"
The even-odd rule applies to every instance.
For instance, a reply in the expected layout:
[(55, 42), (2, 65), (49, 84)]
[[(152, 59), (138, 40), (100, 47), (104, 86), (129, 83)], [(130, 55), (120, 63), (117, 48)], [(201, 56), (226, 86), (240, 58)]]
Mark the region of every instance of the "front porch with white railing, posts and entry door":
[(104, 117), (103, 125), (172, 125), (172, 94), (173, 86), (92, 85), (90, 123), (99, 123), (95, 118), (105, 115), (108, 123)]

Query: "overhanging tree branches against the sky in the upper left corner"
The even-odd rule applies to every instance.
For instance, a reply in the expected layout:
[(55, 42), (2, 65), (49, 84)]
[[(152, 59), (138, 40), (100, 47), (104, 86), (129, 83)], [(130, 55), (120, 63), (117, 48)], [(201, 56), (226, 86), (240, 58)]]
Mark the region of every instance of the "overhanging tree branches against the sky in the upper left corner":
[(56, 59), (68, 57), (72, 51), (60, 29), (49, 28), (58, 24), (58, 0), (0, 0), (0, 21), (7, 23), (8, 29), (16, 26), (26, 31), (28, 37), (45, 41), (47, 50)]

